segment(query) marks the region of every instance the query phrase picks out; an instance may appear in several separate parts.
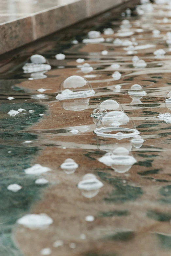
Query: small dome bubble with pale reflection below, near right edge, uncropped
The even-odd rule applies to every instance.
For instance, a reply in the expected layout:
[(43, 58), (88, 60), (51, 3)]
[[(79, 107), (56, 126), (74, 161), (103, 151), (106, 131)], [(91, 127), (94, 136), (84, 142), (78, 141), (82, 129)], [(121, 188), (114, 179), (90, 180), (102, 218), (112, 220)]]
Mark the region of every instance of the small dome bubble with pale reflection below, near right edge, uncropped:
[(140, 99), (146, 94), (146, 91), (141, 87), (141, 85), (132, 85), (128, 90), (128, 95), (132, 98), (130, 105), (142, 104)]

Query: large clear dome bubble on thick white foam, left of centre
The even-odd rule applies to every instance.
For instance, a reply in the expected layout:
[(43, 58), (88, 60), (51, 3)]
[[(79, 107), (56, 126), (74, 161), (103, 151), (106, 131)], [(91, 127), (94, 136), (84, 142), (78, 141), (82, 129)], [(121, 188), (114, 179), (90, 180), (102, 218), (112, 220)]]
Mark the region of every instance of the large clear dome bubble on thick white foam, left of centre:
[(87, 79), (81, 76), (69, 76), (60, 85), (58, 100), (87, 98), (93, 96), (95, 91)]

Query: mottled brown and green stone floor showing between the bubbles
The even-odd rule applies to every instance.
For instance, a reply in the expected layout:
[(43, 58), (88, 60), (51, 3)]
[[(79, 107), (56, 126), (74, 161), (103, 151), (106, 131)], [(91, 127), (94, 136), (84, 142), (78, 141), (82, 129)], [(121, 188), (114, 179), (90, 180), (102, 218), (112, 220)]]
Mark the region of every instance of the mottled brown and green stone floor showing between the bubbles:
[[(137, 16), (130, 4), (133, 36), (138, 45), (153, 45), (128, 55), (123, 47), (115, 47), (117, 30), (124, 18), (121, 7), (101, 14), (94, 19), (63, 30), (38, 43), (2, 56), (0, 61), (0, 122), (1, 122), (1, 186), (0, 186), (0, 255), (37, 256), (43, 248), (51, 248), (52, 256), (170, 256), (171, 255), (171, 125), (157, 118), (165, 108), (164, 98), (171, 90), (171, 51), (166, 44), (166, 32), (171, 19), (167, 5), (153, 4), (153, 12)], [(123, 7), (122, 7), (123, 8)], [(163, 10), (163, 12), (161, 12)], [(139, 24), (138, 24), (139, 22)], [(114, 34), (106, 36), (103, 29), (111, 27)], [(137, 32), (143, 28), (143, 32)], [(152, 30), (161, 31), (159, 37)], [(102, 37), (111, 37), (111, 43), (83, 44), (90, 30), (101, 31)], [(78, 44), (71, 42), (77, 39)], [(153, 52), (166, 51), (165, 57), (156, 59)], [(101, 55), (108, 50), (108, 55)], [(22, 67), (32, 54), (42, 54), (52, 69), (47, 78), (28, 80)], [(64, 53), (65, 60), (56, 60), (57, 53)], [(134, 68), (133, 55), (147, 62), (147, 67)], [(55, 99), (60, 83), (71, 75), (84, 74), (77, 68), (77, 58), (84, 58), (94, 70), (89, 78), (96, 94), (88, 99), (61, 105)], [(113, 63), (122, 76), (114, 81)], [(161, 63), (159, 66), (158, 64)], [(64, 66), (61, 68), (61, 66)], [(141, 102), (132, 105), (128, 89), (139, 84), (147, 92)], [(118, 92), (116, 85), (120, 85)], [(31, 95), (44, 92), (46, 99), (31, 99)], [(9, 101), (7, 97), (15, 99)], [(114, 99), (135, 122), (145, 140), (139, 149), (129, 140), (111, 140), (113, 148), (124, 146), (131, 150), (137, 162), (126, 173), (116, 173), (100, 163), (104, 140), (93, 133), (95, 125), (89, 116), (101, 101)], [(62, 107), (63, 106), (63, 107)], [(71, 110), (73, 106), (76, 111)], [(80, 108), (85, 108), (80, 111)], [(7, 114), (10, 109), (34, 110), (29, 114)], [(43, 116), (39, 116), (43, 114)], [(78, 129), (77, 134), (70, 130)], [(24, 143), (32, 141), (32, 143)], [(65, 147), (65, 148), (64, 148)], [(11, 153), (8, 153), (11, 151)], [(79, 165), (67, 175), (60, 168), (66, 158)], [(37, 185), (34, 175), (26, 175), (24, 169), (41, 164), (52, 169), (39, 177), (49, 180), (48, 185)], [(86, 173), (92, 173), (103, 182), (98, 195), (88, 199), (81, 195), (78, 182)], [(7, 186), (13, 183), (23, 188), (13, 193)], [(45, 230), (31, 230), (16, 224), (27, 213), (46, 213), (53, 224)], [(93, 222), (85, 217), (93, 215)], [(86, 239), (80, 239), (85, 234)], [(57, 240), (63, 246), (53, 247)], [(75, 243), (76, 248), (70, 248)]]

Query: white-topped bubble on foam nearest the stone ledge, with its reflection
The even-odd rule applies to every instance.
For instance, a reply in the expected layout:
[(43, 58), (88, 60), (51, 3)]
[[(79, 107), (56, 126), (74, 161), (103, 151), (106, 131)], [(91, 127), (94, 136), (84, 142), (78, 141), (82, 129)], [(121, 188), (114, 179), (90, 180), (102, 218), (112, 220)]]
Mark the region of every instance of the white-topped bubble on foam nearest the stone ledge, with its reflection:
[(23, 66), (24, 73), (31, 73), (29, 80), (46, 78), (44, 73), (50, 69), (49, 62), (39, 54), (32, 55), (29, 62)]

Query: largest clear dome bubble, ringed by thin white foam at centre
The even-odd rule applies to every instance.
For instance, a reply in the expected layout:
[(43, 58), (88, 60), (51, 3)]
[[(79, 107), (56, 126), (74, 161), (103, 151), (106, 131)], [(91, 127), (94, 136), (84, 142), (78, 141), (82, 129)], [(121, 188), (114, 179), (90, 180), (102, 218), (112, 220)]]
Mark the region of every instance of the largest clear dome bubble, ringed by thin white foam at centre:
[(130, 138), (137, 134), (134, 121), (122, 111), (108, 112), (98, 120), (94, 133), (105, 138)]

